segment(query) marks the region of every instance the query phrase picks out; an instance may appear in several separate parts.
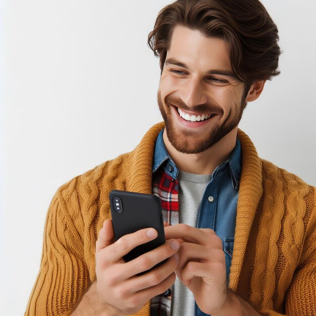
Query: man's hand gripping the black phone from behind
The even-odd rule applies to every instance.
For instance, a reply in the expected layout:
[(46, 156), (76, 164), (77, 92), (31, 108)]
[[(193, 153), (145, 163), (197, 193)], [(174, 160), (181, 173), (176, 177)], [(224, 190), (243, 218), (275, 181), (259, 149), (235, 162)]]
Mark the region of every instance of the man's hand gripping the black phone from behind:
[[(148, 231), (155, 233), (149, 237)], [(163, 245), (126, 262), (123, 256), (140, 244), (157, 237), (153, 228), (138, 230), (114, 240), (112, 220), (106, 220), (100, 230), (95, 249), (96, 293), (98, 301), (113, 306), (118, 315), (138, 312), (152, 297), (164, 293), (175, 282), (179, 262), (176, 253), (180, 243), (167, 240)], [(177, 247), (173, 248), (173, 245)], [(137, 276), (160, 261), (164, 264)]]

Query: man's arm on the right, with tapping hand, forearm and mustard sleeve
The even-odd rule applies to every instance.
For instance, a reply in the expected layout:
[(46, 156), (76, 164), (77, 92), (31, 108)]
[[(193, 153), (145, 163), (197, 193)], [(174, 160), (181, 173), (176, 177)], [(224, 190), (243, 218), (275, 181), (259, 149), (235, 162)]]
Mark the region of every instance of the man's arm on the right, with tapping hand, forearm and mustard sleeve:
[[(207, 234), (207, 238), (202, 238), (203, 234)], [(180, 281), (187, 286), (194, 294), (194, 298), (200, 309), (206, 310), (206, 313), (212, 316), (282, 316), (273, 309), (255, 308), (250, 303), (239, 297), (236, 293), (226, 288), (226, 271), (218, 269), (217, 274), (212, 274), (212, 264), (220, 262), (223, 267), (225, 265), (224, 257), (216, 248), (216, 234), (209, 229), (197, 229), (188, 225), (179, 224), (173, 226), (165, 225), (165, 235), (168, 238), (181, 238), (181, 248), (179, 249), (180, 261), (176, 269), (176, 273)], [(287, 293), (284, 297), (284, 309), (286, 316), (304, 316), (316, 315), (316, 209), (311, 216), (311, 220), (307, 225), (306, 239), (302, 243), (302, 254), (298, 262), (295, 274), (292, 279)], [(194, 243), (192, 243), (195, 242)], [(191, 245), (189, 245), (191, 242)], [(198, 244), (199, 243), (199, 244)], [(205, 243), (205, 244), (203, 244)], [(214, 248), (207, 246), (209, 243)], [(218, 248), (221, 244), (218, 242)], [(197, 251), (194, 252), (194, 247)], [(205, 250), (203, 250), (205, 249)], [(207, 258), (208, 253), (213, 251), (212, 257)], [(216, 252), (217, 251), (217, 252)], [(218, 253), (218, 254), (217, 254)], [(196, 262), (198, 256), (203, 258), (203, 262)], [(189, 261), (188, 258), (195, 257), (195, 261)], [(209, 260), (209, 267), (207, 266)], [(213, 260), (213, 262), (212, 262)], [(190, 267), (189, 267), (190, 265)], [(223, 280), (220, 279), (221, 274), (225, 277), (224, 290)], [(197, 277), (204, 278), (206, 282), (213, 280), (212, 286), (205, 287), (203, 292), (203, 283)], [(223, 277), (223, 278), (224, 278)], [(203, 279), (203, 281), (204, 281)], [(219, 283), (219, 280), (220, 282)], [(200, 281), (198, 283), (198, 281)], [(205, 282), (205, 283), (206, 283)], [(202, 293), (202, 294), (201, 294)], [(223, 302), (219, 303), (219, 298), (224, 296)], [(216, 299), (214, 300), (214, 297)], [(207, 298), (207, 299), (205, 299)], [(214, 303), (213, 303), (214, 302)], [(213, 303), (213, 305), (212, 305)], [(200, 305), (199, 305), (200, 304)], [(214, 307), (216, 306), (216, 307)], [(203, 309), (202, 309), (203, 308)], [(209, 311), (211, 310), (211, 311)], [(205, 312), (205, 311), (204, 311)]]

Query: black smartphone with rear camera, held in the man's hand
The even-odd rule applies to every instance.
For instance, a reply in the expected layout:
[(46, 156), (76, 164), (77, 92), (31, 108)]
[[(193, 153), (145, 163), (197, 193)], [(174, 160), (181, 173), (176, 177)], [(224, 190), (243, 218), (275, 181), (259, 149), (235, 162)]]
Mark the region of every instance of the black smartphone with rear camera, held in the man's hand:
[[(126, 262), (166, 242), (161, 200), (158, 196), (112, 190), (109, 193), (109, 199), (115, 241), (126, 234), (134, 233), (143, 228), (153, 227), (158, 232), (158, 236), (155, 239), (138, 245), (124, 255), (123, 258)], [(165, 261), (167, 259), (138, 275), (159, 267)]]

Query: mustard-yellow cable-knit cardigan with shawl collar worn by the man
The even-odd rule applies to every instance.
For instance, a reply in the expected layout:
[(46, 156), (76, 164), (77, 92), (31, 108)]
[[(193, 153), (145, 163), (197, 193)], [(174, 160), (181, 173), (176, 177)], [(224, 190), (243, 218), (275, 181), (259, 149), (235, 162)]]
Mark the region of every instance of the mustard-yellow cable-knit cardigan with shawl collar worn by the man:
[[(95, 242), (111, 218), (109, 192), (152, 193), (154, 145), (164, 127), (155, 124), (133, 151), (57, 190), (26, 316), (72, 313), (96, 280)], [(242, 172), (229, 287), (265, 315), (316, 315), (316, 188), (260, 159), (240, 129), (237, 136)], [(150, 315), (150, 301), (135, 315)]]

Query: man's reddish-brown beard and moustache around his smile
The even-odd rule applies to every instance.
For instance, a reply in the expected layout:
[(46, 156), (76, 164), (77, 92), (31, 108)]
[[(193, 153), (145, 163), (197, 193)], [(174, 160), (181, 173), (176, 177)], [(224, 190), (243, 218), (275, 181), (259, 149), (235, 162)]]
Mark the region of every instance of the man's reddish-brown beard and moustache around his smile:
[[(206, 123), (206, 130), (206, 128), (193, 129), (185, 126), (183, 128), (177, 127), (175, 122), (173, 122), (171, 107), (173, 105), (180, 109), (186, 110), (186, 104), (182, 101), (181, 98), (166, 97), (167, 108), (165, 109), (161, 98), (161, 91), (158, 90), (158, 106), (161, 115), (165, 121), (166, 132), (170, 143), (177, 151), (182, 153), (199, 153), (209, 147), (212, 147), (239, 124), (243, 110), (246, 108), (247, 105), (247, 102), (245, 101), (246, 96), (247, 93), (244, 93), (240, 104), (235, 107), (236, 111), (231, 108), (231, 111), (229, 112), (228, 117), (225, 119), (224, 122), (220, 122), (220, 120), (217, 118), (219, 114), (217, 114), (214, 117), (213, 122)], [(198, 113), (212, 113), (212, 110), (210, 110), (210, 107), (207, 106), (207, 104), (196, 106), (194, 110)], [(215, 112), (218, 112), (218, 110), (216, 110)]]

